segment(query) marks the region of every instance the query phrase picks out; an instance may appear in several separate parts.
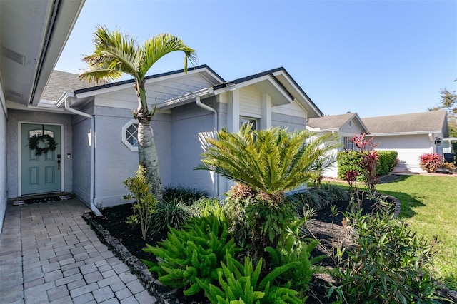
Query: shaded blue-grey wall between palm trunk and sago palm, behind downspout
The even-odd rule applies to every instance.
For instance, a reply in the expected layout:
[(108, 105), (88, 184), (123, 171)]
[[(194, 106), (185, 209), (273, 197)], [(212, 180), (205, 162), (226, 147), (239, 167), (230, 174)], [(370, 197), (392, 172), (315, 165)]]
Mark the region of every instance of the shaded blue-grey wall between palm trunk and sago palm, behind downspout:
[[(206, 101), (208, 102), (208, 101)], [(207, 103), (215, 106), (214, 103)], [(197, 107), (194, 103), (173, 109), (172, 114), (173, 158), (171, 186), (186, 186), (214, 194), (214, 180), (209, 171), (196, 171), (203, 152), (201, 138), (214, 129), (214, 113)]]

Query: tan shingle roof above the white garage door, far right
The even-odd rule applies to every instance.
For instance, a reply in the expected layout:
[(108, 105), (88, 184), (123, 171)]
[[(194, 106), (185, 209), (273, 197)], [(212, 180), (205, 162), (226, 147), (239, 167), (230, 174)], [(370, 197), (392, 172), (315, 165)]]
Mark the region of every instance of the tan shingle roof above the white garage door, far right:
[(436, 133), (448, 136), (446, 111), (362, 118), (371, 134)]

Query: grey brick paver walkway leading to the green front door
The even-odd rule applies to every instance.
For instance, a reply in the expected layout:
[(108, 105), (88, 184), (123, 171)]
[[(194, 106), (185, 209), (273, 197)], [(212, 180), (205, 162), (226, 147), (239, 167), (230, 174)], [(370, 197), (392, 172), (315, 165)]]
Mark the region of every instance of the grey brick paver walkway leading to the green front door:
[(68, 201), (6, 207), (0, 303), (156, 303)]

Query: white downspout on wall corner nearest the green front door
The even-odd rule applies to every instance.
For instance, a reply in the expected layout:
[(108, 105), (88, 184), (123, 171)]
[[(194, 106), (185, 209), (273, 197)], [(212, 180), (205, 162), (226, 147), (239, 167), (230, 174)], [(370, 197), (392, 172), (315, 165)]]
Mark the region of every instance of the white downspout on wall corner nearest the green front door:
[(74, 97), (74, 93), (67, 93), (65, 92), (62, 94), (62, 96), (59, 97), (59, 99), (56, 101), (56, 106), (61, 106), (62, 103), (65, 105), (66, 111), (69, 111), (71, 113), (74, 113), (79, 116), (84, 116), (86, 118), (91, 119), (91, 188), (89, 191), (89, 203), (91, 205), (91, 211), (95, 214), (95, 216), (101, 216), (101, 212), (99, 211), (98, 208), (96, 208), (94, 204), (94, 187), (95, 187), (95, 178), (94, 178), (94, 161), (95, 161), (95, 119), (94, 116), (91, 116), (88, 113), (84, 113), (78, 110), (75, 110), (74, 108), (70, 108), (69, 105), (69, 100), (68, 98)]

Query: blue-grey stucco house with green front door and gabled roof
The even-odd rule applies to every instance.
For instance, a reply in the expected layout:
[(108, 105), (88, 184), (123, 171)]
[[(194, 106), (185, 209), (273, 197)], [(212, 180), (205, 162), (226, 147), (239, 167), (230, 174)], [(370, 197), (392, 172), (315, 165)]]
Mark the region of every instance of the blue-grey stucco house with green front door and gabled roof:
[[(9, 104), (7, 124), (8, 196), (40, 192), (72, 192), (98, 208), (124, 203), (123, 181), (138, 168), (137, 107), (134, 81), (99, 86), (81, 83), (76, 74), (54, 71), (41, 101), (34, 107)], [(195, 171), (201, 161), (204, 138), (226, 127), (238, 131), (241, 123), (255, 128), (286, 126), (301, 130), (309, 118), (322, 113), (283, 68), (224, 81), (209, 66), (171, 71), (146, 78), (146, 96), (157, 111), (151, 122), (164, 186), (189, 186), (221, 195), (231, 182), (209, 171)], [(31, 185), (35, 163), (28, 138), (44, 129), (58, 141), (61, 162), (53, 184)], [(17, 144), (17, 143), (19, 144)], [(35, 163), (30, 163), (35, 161)], [(19, 168), (19, 169), (18, 169)], [(44, 168), (44, 170), (47, 170)], [(49, 188), (51, 187), (51, 188)]]

